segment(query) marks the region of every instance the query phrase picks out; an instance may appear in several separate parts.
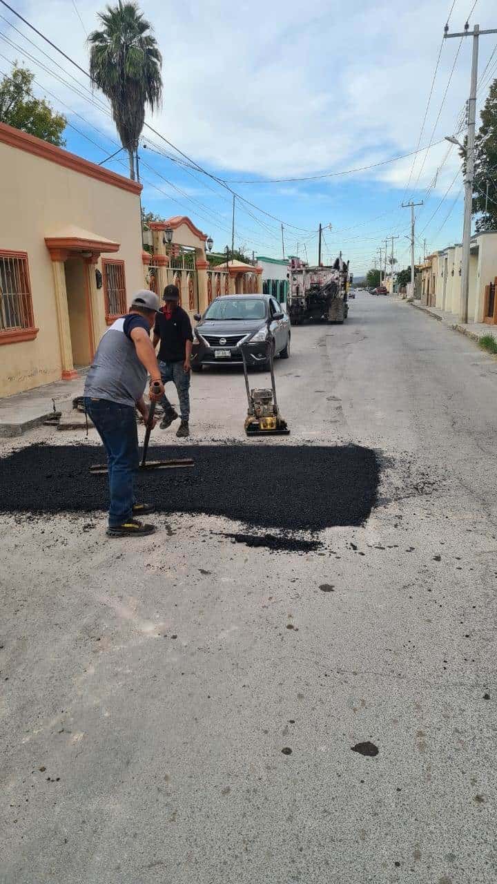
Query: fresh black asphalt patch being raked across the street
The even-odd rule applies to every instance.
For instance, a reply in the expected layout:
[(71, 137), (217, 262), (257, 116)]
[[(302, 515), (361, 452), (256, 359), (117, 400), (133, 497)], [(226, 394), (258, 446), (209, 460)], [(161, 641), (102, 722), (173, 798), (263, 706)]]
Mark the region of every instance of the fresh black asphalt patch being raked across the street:
[[(362, 525), (378, 498), (378, 456), (363, 446), (188, 445), (149, 450), (150, 461), (185, 456), (194, 459), (195, 468), (138, 472), (137, 499), (161, 513), (204, 513), (256, 528), (317, 532)], [(103, 460), (100, 446), (36, 445), (14, 451), (0, 459), (0, 511), (106, 510), (107, 476), (89, 473), (90, 466)], [(259, 542), (260, 538), (254, 541)]]

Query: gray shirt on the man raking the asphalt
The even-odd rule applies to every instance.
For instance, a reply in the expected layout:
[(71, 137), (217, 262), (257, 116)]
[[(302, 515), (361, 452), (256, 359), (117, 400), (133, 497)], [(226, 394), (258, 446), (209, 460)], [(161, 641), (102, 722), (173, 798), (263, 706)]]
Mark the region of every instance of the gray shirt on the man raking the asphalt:
[(126, 316), (116, 319), (97, 347), (85, 383), (85, 396), (135, 406), (147, 383), (134, 343), (123, 331)]

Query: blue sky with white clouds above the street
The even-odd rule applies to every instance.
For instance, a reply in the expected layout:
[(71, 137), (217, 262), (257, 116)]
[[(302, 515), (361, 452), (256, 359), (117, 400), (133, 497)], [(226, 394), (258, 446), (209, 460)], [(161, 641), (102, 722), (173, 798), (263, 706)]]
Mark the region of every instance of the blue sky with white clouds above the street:
[[(99, 27), (102, 2), (9, 4), (88, 68), (87, 36)], [(424, 240), (427, 254), (459, 242), (461, 161), (443, 139), (464, 136), (472, 41), (442, 36), (451, 7), (449, 31), (462, 31), (472, 6), (141, 0), (164, 80), (162, 109), (147, 115), (159, 134), (145, 129), (139, 149), (144, 207), (191, 217), (214, 251), (223, 250), (231, 244), (233, 190), (235, 247), (277, 258), (284, 249), (315, 263), (322, 224), (324, 261), (341, 250), (356, 275), (379, 260), (392, 236), (399, 268), (409, 264), (410, 212), (401, 202), (424, 203), (416, 209), (416, 260)], [(470, 27), (477, 22), (497, 27), (494, 0), (477, 0)], [(497, 76), (497, 35), (479, 42), (477, 112)], [(35, 94), (65, 114), (67, 149), (96, 163), (119, 149), (104, 96), (0, 4), (0, 75), (15, 59), (34, 72)], [(185, 165), (177, 149), (227, 187)], [(127, 174), (123, 152), (105, 165)], [(391, 248), (389, 240), (388, 254)]]

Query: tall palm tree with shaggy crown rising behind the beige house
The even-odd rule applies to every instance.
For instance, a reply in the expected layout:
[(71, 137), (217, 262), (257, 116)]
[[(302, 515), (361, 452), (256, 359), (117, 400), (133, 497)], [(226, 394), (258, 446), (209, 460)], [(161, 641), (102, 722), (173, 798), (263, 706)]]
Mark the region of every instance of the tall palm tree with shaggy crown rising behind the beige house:
[(134, 180), (134, 156), (145, 122), (145, 106), (154, 110), (162, 96), (162, 56), (152, 27), (137, 5), (118, 0), (99, 12), (103, 30), (93, 31), (90, 44), (91, 78), (111, 102), (112, 117), (129, 156)]

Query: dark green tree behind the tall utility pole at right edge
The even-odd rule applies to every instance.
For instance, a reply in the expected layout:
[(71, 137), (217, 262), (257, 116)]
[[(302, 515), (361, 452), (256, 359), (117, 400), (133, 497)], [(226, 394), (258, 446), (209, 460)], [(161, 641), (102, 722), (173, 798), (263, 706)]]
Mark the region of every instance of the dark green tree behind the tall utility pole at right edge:
[(497, 80), (493, 80), (480, 117), (481, 126), (475, 139), (473, 215), (479, 215), (476, 229), (484, 231), (497, 228)]

